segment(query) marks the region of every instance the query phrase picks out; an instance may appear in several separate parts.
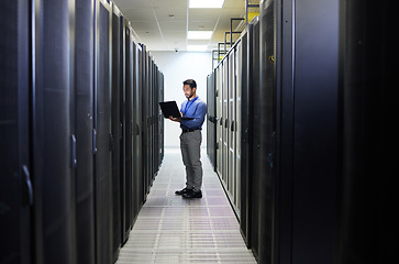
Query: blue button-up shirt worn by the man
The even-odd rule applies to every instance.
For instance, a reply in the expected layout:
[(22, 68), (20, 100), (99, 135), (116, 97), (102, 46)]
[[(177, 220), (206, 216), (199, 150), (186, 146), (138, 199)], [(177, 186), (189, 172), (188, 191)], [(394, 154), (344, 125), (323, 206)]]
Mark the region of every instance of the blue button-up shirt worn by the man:
[(207, 114), (207, 103), (199, 97), (191, 99), (190, 101), (184, 101), (181, 103), (180, 112), (182, 117), (193, 118), (192, 120), (181, 119), (180, 128), (184, 130), (201, 129)]

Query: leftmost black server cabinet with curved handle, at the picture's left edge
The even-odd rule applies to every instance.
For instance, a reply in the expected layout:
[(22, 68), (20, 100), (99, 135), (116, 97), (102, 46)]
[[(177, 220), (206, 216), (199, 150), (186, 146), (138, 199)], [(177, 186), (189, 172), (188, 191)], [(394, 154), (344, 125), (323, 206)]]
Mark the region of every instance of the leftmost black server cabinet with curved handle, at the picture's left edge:
[(30, 4), (0, 3), (0, 263), (33, 263)]

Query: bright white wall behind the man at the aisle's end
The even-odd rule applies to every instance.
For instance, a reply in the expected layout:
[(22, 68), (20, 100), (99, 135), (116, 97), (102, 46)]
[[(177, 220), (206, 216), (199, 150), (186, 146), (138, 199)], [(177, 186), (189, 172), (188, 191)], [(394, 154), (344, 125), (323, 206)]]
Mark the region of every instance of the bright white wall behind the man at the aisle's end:
[[(151, 52), (165, 77), (165, 101), (176, 101), (180, 108), (187, 100), (182, 81), (195, 79), (197, 95), (207, 101), (207, 76), (212, 72), (212, 53)], [(165, 147), (179, 147), (180, 124), (165, 119)], [(207, 145), (207, 120), (202, 125), (202, 147)]]

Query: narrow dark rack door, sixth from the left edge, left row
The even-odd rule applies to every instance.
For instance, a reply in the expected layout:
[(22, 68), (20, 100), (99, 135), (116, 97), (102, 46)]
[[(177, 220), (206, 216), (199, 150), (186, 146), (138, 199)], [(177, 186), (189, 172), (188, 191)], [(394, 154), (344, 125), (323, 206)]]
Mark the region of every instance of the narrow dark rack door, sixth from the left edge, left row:
[(128, 238), (131, 228), (133, 227), (133, 211), (135, 211), (134, 204), (132, 202), (133, 195), (133, 42), (129, 22), (124, 20), (124, 80), (125, 80), (125, 107), (124, 107), (124, 169), (122, 188), (124, 189), (122, 196), (122, 243)]

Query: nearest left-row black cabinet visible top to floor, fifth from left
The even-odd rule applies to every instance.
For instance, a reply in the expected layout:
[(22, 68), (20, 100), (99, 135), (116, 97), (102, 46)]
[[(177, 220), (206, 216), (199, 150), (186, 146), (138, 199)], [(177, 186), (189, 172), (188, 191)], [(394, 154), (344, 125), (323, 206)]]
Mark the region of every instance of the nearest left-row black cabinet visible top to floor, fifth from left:
[(123, 136), (123, 128), (124, 121), (121, 117), (123, 117), (124, 110), (122, 109), (124, 106), (124, 87), (123, 87), (123, 50), (121, 45), (123, 45), (123, 35), (121, 34), (123, 30), (123, 16), (122, 13), (118, 10), (118, 8), (112, 6), (112, 88), (111, 88), (111, 122), (112, 122), (112, 224), (113, 224), (113, 261), (117, 261), (119, 249), (121, 246), (121, 195), (122, 188), (121, 184), (123, 180), (124, 167), (124, 136)]

